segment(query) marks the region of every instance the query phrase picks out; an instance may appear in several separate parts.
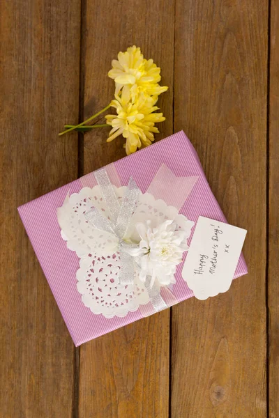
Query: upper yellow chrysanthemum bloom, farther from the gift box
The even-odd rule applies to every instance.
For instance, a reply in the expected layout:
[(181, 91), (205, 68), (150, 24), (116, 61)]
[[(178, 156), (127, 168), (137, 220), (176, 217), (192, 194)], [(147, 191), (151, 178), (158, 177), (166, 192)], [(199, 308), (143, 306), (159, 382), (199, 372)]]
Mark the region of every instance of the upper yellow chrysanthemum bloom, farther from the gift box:
[(153, 59), (146, 60), (140, 48), (129, 47), (126, 52), (119, 52), (118, 60), (112, 61), (112, 70), (108, 73), (116, 84), (115, 93), (123, 86), (137, 86), (137, 93), (144, 92), (147, 95), (159, 95), (167, 91), (166, 86), (159, 86), (160, 68), (153, 63)]

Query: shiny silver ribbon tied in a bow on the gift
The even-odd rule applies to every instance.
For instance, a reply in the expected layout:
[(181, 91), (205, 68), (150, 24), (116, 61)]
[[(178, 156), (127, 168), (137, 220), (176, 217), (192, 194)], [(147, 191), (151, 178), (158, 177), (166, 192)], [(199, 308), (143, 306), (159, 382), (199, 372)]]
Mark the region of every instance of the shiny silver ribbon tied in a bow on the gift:
[[(103, 194), (103, 199), (110, 210), (110, 219), (103, 216), (98, 208), (92, 208), (84, 215), (86, 220), (95, 228), (101, 231), (112, 233), (119, 240), (119, 254), (121, 260), (121, 270), (119, 274), (119, 283), (123, 285), (134, 283), (134, 269), (137, 268), (135, 258), (129, 254), (129, 249), (137, 248), (138, 245), (133, 242), (124, 240), (126, 231), (130, 224), (133, 212), (137, 204), (137, 198), (140, 194), (140, 189), (137, 187), (135, 180), (130, 177), (128, 187), (123, 196), (120, 205), (119, 199), (114, 192), (114, 187), (110, 183), (110, 178), (107, 176), (105, 169), (94, 171), (94, 176), (97, 180), (100, 190)], [(162, 311), (167, 308), (167, 304), (160, 295), (160, 289), (153, 286), (151, 288), (151, 277), (146, 278), (146, 290), (149, 293), (149, 298), (156, 311)]]

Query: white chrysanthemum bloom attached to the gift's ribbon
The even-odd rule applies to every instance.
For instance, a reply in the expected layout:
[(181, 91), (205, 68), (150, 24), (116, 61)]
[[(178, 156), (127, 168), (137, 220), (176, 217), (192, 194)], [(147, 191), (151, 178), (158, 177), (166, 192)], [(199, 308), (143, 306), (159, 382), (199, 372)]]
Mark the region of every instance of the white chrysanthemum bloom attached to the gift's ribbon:
[(158, 286), (175, 283), (176, 265), (181, 263), (183, 252), (188, 249), (186, 231), (177, 230), (171, 220), (157, 228), (151, 228), (151, 221), (139, 222), (136, 229), (140, 245), (129, 252), (140, 266), (140, 279), (146, 281), (146, 276), (151, 276), (151, 287), (155, 282)]

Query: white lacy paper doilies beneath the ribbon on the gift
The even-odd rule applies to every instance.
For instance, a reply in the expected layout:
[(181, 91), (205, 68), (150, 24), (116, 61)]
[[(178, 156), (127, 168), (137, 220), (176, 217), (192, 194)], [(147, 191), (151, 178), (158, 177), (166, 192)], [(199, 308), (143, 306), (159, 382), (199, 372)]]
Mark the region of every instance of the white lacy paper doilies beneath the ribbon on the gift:
[[(114, 187), (114, 192), (121, 203), (126, 186)], [(68, 249), (75, 251), (80, 258), (77, 270), (77, 290), (82, 294), (82, 302), (93, 314), (103, 314), (106, 318), (126, 316), (129, 311), (136, 311), (140, 304), (149, 302), (149, 295), (144, 284), (135, 272), (133, 285), (119, 284), (120, 258), (118, 239), (105, 231), (100, 231), (86, 221), (84, 214), (96, 207), (110, 219), (99, 186), (84, 187), (79, 193), (66, 196), (57, 217), (61, 227), (61, 236)], [(153, 228), (166, 219), (176, 222), (179, 229), (186, 231), (189, 237), (193, 222), (178, 214), (173, 206), (167, 206), (163, 200), (155, 200), (149, 194), (140, 194), (133, 217), (126, 231), (126, 238), (136, 242), (140, 240), (135, 229), (137, 222), (151, 220)]]

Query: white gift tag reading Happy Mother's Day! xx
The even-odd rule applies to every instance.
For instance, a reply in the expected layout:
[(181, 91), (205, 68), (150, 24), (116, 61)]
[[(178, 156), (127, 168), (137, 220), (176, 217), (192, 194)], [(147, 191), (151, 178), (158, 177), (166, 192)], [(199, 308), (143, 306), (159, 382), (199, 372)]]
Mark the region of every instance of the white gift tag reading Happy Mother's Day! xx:
[(246, 229), (199, 217), (182, 270), (197, 299), (229, 290), (246, 233)]

